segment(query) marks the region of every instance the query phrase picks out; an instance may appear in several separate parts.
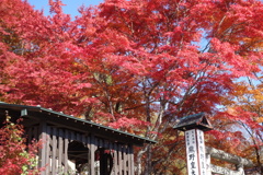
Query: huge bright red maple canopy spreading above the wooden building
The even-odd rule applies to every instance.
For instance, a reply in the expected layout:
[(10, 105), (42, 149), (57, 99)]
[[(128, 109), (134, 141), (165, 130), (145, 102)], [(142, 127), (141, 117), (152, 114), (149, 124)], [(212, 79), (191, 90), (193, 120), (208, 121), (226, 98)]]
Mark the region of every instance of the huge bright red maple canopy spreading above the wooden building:
[(185, 171), (176, 119), (217, 114), (235, 80), (261, 71), (261, 1), (106, 0), (75, 19), (60, 0), (49, 4), (44, 16), (26, 1), (0, 2), (1, 101), (158, 140), (138, 150), (138, 174)]

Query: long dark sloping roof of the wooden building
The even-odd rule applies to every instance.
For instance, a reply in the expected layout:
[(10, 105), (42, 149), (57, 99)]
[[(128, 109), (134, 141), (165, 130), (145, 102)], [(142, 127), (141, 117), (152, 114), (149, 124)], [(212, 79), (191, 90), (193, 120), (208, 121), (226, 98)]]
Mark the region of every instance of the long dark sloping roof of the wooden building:
[[(61, 126), (75, 130), (82, 130), (94, 132), (96, 136), (102, 138), (111, 138), (113, 140), (123, 140), (127, 143), (133, 143), (137, 145), (142, 145), (144, 143), (156, 143), (156, 141), (148, 138), (144, 138), (137, 135), (121, 131), (118, 129), (113, 129), (90, 120), (77, 118), (64, 113), (55, 112), (53, 109), (44, 108), (41, 106), (26, 106), (16, 104), (7, 104), (0, 102), (0, 109), (20, 112), (22, 117), (31, 117), (45, 119), (47, 122), (61, 122)], [(38, 115), (36, 115), (38, 114)]]

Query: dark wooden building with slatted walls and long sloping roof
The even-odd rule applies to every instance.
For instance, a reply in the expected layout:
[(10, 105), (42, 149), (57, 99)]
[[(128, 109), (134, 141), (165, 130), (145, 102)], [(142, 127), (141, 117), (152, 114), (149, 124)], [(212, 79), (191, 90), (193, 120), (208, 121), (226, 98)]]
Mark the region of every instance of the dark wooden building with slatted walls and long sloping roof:
[[(133, 147), (155, 141), (112, 129), (89, 120), (43, 108), (0, 103), (5, 115), (23, 118), (27, 142), (42, 140), (37, 155), (43, 175), (134, 175)], [(2, 124), (2, 122), (1, 122)], [(77, 173), (76, 173), (77, 172)]]

